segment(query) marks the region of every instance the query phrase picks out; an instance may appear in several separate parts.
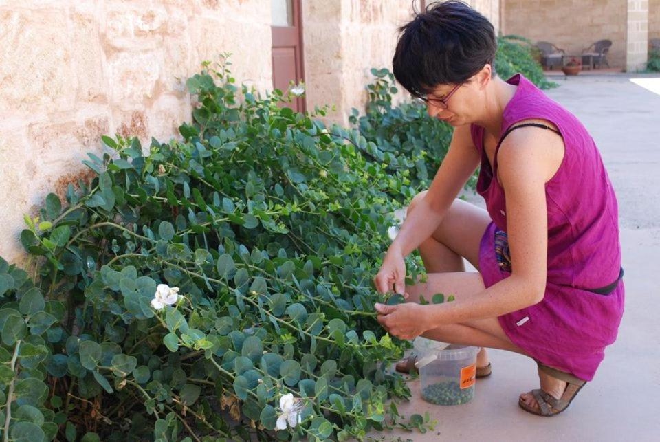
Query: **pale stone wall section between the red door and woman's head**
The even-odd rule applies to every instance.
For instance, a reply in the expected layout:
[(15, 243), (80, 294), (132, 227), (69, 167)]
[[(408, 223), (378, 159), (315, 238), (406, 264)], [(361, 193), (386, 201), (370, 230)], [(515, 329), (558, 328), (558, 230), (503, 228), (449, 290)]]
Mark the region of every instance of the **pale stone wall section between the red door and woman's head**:
[(307, 109), (331, 104), (327, 120), (347, 125), (351, 108), (364, 109), (371, 68), (392, 69), (397, 28), (410, 19), (410, 1), (303, 1)]

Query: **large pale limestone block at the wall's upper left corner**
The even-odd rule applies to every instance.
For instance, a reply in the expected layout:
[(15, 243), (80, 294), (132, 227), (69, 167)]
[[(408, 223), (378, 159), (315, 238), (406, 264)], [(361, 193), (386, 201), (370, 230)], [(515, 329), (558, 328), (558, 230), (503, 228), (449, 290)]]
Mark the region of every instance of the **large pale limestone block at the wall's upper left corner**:
[(0, 10), (0, 60), (0, 113), (73, 105), (72, 54), (62, 10)]

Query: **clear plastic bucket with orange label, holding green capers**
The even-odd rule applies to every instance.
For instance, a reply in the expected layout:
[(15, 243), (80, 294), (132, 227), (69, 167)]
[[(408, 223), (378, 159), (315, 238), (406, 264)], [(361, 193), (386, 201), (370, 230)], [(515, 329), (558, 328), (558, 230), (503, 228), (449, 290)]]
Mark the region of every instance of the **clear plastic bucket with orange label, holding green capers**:
[[(419, 341), (417, 341), (419, 340)], [(467, 404), (474, 398), (478, 347), (417, 338), (421, 397), (431, 404)]]

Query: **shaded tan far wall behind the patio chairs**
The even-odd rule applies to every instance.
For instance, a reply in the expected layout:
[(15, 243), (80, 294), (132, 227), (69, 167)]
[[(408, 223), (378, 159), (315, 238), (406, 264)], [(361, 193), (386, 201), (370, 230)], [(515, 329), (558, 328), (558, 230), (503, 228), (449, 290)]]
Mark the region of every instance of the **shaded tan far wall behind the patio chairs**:
[(503, 30), (532, 41), (549, 41), (580, 54), (584, 47), (607, 38), (610, 67), (626, 67), (628, 0), (502, 0)]

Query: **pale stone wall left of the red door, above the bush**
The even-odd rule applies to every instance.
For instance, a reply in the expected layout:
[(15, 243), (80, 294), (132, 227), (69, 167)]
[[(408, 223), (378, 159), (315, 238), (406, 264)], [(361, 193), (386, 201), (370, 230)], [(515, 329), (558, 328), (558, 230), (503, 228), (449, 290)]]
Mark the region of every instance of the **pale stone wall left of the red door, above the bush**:
[(0, 256), (21, 256), (23, 214), (89, 176), (100, 135), (175, 136), (202, 60), (232, 52), (237, 80), (271, 89), (270, 14), (264, 0), (0, 1)]

